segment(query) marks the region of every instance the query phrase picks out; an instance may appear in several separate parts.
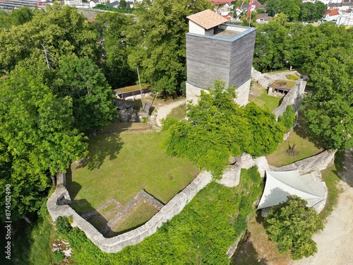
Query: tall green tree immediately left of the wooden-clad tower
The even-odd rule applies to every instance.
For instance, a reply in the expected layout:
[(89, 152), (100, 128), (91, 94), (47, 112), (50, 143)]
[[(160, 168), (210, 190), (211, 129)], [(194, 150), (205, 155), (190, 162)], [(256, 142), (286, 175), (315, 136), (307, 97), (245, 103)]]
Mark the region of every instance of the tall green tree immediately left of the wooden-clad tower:
[(162, 95), (184, 92), (186, 81), (186, 16), (212, 4), (207, 0), (143, 1), (136, 16), (138, 23), (126, 32), (132, 47), (128, 63), (139, 67), (141, 81)]

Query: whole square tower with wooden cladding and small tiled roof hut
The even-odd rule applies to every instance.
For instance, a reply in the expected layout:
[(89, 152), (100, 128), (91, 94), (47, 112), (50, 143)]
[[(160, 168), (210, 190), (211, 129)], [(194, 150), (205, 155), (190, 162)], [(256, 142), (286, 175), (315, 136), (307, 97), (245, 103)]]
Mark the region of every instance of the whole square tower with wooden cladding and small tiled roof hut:
[(227, 24), (227, 19), (205, 10), (189, 18), (186, 33), (186, 99), (196, 104), (201, 90), (215, 79), (235, 85), (239, 105), (249, 100), (256, 28)]

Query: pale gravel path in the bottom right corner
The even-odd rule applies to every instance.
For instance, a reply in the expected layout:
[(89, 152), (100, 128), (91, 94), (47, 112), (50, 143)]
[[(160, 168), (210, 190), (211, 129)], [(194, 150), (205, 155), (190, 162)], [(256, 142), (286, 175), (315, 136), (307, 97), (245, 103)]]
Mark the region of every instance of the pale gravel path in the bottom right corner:
[(340, 173), (337, 206), (328, 216), (322, 232), (313, 235), (318, 245), (318, 253), (308, 259), (292, 261), (292, 265), (353, 265), (353, 149), (345, 152), (345, 170)]

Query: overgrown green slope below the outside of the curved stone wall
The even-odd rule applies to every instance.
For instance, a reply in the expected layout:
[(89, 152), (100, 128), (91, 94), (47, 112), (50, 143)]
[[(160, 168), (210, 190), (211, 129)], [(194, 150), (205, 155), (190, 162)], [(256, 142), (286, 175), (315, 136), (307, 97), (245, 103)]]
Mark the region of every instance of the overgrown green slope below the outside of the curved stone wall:
[(78, 228), (66, 238), (77, 264), (229, 264), (227, 249), (246, 230), (262, 189), (256, 167), (241, 171), (238, 187), (213, 182), (155, 234), (116, 254), (101, 252)]

